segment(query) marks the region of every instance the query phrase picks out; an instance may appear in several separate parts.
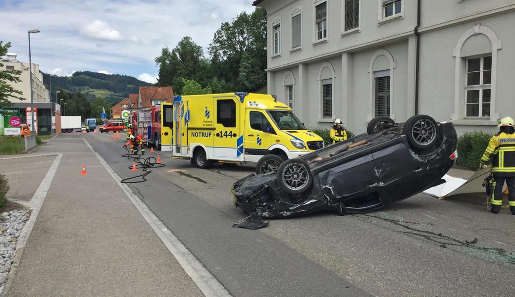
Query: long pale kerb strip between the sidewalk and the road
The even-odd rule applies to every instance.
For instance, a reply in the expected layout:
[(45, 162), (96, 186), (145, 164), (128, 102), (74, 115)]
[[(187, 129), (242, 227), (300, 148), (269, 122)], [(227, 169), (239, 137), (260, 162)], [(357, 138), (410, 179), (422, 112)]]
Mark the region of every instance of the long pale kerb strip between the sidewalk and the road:
[(184, 244), (171, 232), (166, 225), (148, 208), (148, 206), (141, 201), (138, 195), (134, 194), (132, 189), (127, 184), (122, 184), (122, 178), (107, 164), (107, 162), (93, 150), (93, 147), (88, 141), (82, 138), (88, 145), (91, 151), (97, 156), (100, 163), (106, 168), (107, 172), (116, 181), (118, 186), (122, 188), (125, 195), (134, 204), (136, 209), (140, 212), (143, 218), (150, 225), (152, 230), (164, 243), (168, 251), (175, 257), (179, 265), (184, 269), (188, 276), (190, 276), (198, 286), (200, 291), (207, 297), (232, 297), (229, 291), (218, 282), (218, 280), (205, 268), (202, 263), (188, 250)]

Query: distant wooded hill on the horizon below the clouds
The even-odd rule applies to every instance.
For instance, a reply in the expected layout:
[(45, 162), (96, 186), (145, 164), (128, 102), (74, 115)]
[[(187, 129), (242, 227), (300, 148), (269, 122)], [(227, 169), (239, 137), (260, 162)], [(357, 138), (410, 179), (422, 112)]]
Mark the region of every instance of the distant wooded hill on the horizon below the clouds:
[[(43, 73), (43, 83), (50, 88), (50, 75)], [(52, 101), (56, 100), (56, 91), (60, 88), (72, 93), (83, 93), (88, 100), (97, 96), (104, 97), (107, 103), (118, 103), (129, 94), (138, 93), (140, 86), (151, 83), (141, 81), (132, 76), (119, 74), (103, 74), (91, 71), (78, 71), (72, 76), (52, 76)]]

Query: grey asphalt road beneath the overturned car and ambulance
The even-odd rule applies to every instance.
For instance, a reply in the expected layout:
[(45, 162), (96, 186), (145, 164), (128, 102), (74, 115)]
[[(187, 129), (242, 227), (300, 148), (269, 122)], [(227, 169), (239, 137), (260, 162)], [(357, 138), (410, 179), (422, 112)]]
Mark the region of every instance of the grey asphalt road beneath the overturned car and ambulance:
[[(121, 176), (123, 140), (83, 135)], [(156, 156), (149, 153), (147, 155)], [(245, 215), (230, 188), (249, 165), (197, 169), (163, 153), (131, 188), (234, 296), (512, 296), (515, 217), (416, 195), (380, 212), (325, 212), (232, 228)], [(137, 172), (141, 174), (141, 171)], [(469, 244), (477, 238), (477, 243)]]

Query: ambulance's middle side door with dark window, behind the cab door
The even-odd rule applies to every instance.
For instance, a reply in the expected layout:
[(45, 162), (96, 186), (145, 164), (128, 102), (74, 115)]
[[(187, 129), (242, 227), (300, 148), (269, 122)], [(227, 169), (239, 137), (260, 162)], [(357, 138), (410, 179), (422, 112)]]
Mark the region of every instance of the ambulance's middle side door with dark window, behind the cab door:
[(215, 160), (243, 160), (243, 127), (240, 121), (241, 102), (235, 97), (215, 97), (213, 158)]

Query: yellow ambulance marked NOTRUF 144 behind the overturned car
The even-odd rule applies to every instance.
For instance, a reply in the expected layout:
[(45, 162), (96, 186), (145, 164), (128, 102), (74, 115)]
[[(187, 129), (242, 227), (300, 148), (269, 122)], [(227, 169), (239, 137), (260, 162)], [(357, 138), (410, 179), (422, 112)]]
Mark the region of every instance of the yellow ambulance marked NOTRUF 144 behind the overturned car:
[(257, 173), (323, 147), (322, 138), (285, 104), (241, 92), (176, 96), (173, 135), (173, 158), (190, 159), (199, 168), (258, 162)]

